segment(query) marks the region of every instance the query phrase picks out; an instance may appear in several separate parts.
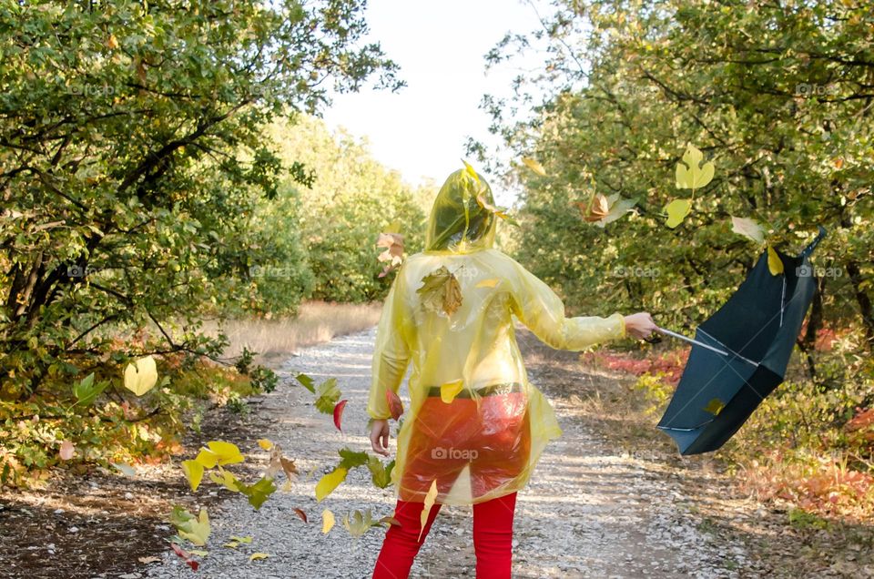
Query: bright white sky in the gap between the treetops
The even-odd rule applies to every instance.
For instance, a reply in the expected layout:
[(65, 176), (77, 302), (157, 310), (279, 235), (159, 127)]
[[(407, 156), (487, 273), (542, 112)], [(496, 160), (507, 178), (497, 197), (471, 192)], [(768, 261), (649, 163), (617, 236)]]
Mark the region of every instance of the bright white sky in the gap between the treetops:
[[(483, 94), (509, 96), (518, 67), (530, 63), (502, 64), (486, 75), (483, 56), (508, 31), (538, 25), (534, 8), (517, 0), (370, 0), (364, 15), (371, 29), (366, 40), (380, 42), (407, 86), (335, 95), (323, 117), (329, 127), (366, 137), (373, 157), (408, 183), (432, 178), (439, 186), (462, 168), (467, 137), (497, 143), (479, 108)], [(497, 189), (497, 203), (512, 201), (513, 192)]]

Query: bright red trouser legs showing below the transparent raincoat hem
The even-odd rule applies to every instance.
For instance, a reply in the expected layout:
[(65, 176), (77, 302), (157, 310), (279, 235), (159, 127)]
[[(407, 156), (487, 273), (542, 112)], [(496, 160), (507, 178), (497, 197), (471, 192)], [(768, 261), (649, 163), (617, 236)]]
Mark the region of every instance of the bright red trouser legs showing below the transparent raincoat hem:
[[(412, 560), (419, 553), (440, 507), (440, 503), (434, 503), (428, 513), (420, 542), (422, 503), (398, 501), (394, 518), (401, 526), (392, 524), (386, 531), (380, 556), (373, 569), (373, 579), (405, 579), (410, 575)], [(516, 493), (473, 505), (477, 579), (510, 578), (515, 507)]]

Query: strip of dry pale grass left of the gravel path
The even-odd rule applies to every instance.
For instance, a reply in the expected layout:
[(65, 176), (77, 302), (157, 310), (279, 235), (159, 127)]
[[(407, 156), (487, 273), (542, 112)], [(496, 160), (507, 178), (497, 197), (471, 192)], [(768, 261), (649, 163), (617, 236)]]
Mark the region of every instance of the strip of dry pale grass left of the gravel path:
[(238, 356), (243, 347), (259, 352), (255, 363), (271, 366), (302, 347), (325, 342), (334, 336), (366, 330), (380, 320), (381, 304), (345, 304), (308, 301), (297, 318), (228, 320), (222, 326), (204, 323), (204, 332), (224, 330), (230, 340), (226, 356)]

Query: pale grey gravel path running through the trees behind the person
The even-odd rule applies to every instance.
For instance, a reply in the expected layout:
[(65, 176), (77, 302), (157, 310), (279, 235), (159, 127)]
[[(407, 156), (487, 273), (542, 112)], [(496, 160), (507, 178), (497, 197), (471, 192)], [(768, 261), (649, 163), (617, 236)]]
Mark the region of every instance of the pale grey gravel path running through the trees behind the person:
[[(272, 422), (263, 436), (281, 444), (295, 458), (300, 472), (316, 472), (309, 480), (302, 474), (289, 493), (275, 493), (259, 512), (238, 496), (213, 509), (209, 554), (196, 576), (371, 576), (384, 531), (374, 528), (355, 540), (340, 520), (343, 513), (356, 509), (371, 508), (375, 519), (390, 515), (394, 507), (391, 490), (373, 487), (364, 468), (353, 470), (321, 504), (314, 499), (313, 487), (321, 472), (330, 471), (339, 460), (338, 449), (370, 448), (364, 409), (375, 335), (373, 328), (300, 350), (299, 356), (281, 368), (279, 388), (259, 403), (259, 414)], [(329, 416), (315, 410), (309, 391), (290, 385), (299, 371), (319, 380), (338, 378), (343, 398), (349, 400), (345, 433), (334, 428)], [(529, 372), (535, 384), (538, 375), (536, 368)], [(548, 389), (543, 390), (548, 395)], [(554, 407), (564, 435), (547, 446), (531, 483), (519, 493), (514, 577), (740, 576), (737, 569), (746, 561), (743, 548), (724, 539), (715, 545), (712, 535), (699, 530), (676, 472), (656, 462), (616, 454), (596, 432), (586, 430), (573, 404), (560, 400), (554, 401)], [(252, 449), (244, 449), (248, 452)], [(205, 482), (198, 493), (214, 488)], [(309, 515), (309, 524), (296, 516), (296, 507)], [(328, 535), (320, 529), (325, 507), (337, 515), (337, 525)], [(474, 576), (471, 514), (470, 507), (442, 507), (411, 576)], [(249, 535), (252, 543), (238, 549), (222, 547), (230, 535)], [(249, 562), (249, 554), (255, 552), (270, 556)], [(149, 567), (147, 576), (191, 574), (177, 557), (167, 554), (162, 563)]]

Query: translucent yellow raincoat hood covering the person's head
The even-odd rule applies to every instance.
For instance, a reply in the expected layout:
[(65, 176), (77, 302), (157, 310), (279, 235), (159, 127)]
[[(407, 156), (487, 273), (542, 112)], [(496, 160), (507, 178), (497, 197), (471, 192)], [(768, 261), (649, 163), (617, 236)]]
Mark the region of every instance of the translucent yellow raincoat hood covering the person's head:
[(452, 173), (434, 199), (425, 251), (469, 253), (492, 248), (497, 218), (482, 201), (494, 205), (492, 188), (481, 175), (471, 168)]

